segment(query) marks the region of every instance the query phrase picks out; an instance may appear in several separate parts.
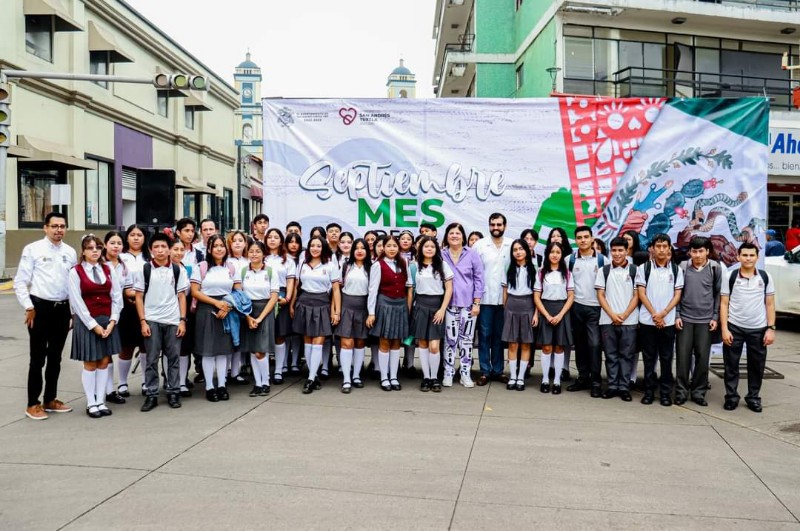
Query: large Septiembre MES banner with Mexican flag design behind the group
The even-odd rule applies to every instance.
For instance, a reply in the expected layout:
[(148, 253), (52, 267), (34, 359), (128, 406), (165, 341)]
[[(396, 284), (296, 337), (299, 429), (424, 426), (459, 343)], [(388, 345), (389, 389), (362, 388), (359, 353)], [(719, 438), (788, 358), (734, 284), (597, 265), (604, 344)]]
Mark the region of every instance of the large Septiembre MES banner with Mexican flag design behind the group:
[(264, 210), (278, 226), (487, 233), (500, 212), (511, 237), (763, 230), (763, 99), (265, 99), (263, 113)]

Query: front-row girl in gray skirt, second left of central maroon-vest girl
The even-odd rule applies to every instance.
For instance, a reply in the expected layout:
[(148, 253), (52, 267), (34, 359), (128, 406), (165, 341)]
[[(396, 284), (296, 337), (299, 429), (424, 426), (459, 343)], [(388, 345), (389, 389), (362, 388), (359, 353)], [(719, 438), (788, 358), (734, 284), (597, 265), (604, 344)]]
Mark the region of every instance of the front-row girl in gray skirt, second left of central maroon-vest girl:
[(290, 311), (294, 331), (303, 336), (305, 343), (308, 379), (303, 394), (310, 394), (322, 388), (317, 376), (322, 364), (322, 344), (333, 333), (332, 326), (339, 323), (341, 308), (339, 266), (323, 237), (314, 236), (308, 241), (298, 278), (300, 288), (292, 299)]

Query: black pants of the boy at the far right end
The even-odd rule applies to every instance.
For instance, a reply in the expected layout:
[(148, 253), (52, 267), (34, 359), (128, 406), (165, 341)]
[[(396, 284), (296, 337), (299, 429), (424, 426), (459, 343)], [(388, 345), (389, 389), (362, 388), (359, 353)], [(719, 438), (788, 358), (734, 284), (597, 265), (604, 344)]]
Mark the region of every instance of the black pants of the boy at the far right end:
[(722, 359), (725, 362), (725, 400), (739, 401), (739, 361), (742, 359), (742, 346), (747, 345), (747, 396), (745, 402), (759, 400), (764, 367), (767, 365), (767, 347), (764, 345), (766, 328), (740, 328), (728, 324), (733, 335), (731, 346), (722, 346)]

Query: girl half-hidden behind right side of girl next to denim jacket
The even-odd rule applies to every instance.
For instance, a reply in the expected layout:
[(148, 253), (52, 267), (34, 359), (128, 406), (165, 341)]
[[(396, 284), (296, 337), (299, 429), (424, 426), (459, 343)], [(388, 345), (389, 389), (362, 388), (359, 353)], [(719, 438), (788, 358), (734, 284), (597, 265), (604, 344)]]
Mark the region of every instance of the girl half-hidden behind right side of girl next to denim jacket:
[[(275, 310), (275, 374), (273, 383), (281, 385), (283, 375), (287, 372), (286, 349), (287, 344), (293, 336), (292, 319), (289, 316), (289, 301), (294, 295), (294, 286), (297, 277), (297, 266), (295, 261), (286, 253), (283, 233), (280, 229), (272, 228), (267, 230), (266, 252), (264, 259), (266, 265), (272, 268), (278, 275), (278, 304)], [(299, 358), (299, 341), (296, 342), (297, 352), (292, 352), (292, 358)]]

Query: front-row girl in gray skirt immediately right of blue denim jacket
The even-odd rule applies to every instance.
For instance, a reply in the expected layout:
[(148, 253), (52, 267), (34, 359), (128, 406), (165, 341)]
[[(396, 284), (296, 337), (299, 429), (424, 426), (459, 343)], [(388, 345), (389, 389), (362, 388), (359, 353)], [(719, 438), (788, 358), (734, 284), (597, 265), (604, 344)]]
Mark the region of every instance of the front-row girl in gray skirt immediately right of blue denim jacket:
[(250, 396), (269, 394), (269, 358), (274, 344), (275, 305), (278, 303), (278, 273), (264, 263), (264, 244), (251, 240), (247, 245), (250, 265), (241, 271), (242, 290), (253, 302), (252, 313), (241, 321), (241, 350), (250, 353), (255, 382)]

